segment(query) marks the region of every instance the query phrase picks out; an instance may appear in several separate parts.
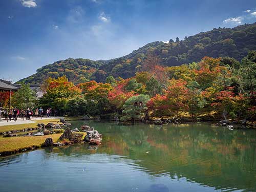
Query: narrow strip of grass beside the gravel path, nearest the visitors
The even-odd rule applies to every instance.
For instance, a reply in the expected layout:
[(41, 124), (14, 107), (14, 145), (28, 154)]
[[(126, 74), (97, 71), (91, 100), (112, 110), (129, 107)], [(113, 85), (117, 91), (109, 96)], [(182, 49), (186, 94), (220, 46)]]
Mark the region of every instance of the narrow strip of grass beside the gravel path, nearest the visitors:
[(37, 127), (37, 123), (45, 123), (45, 124), (50, 122), (57, 123), (59, 122), (59, 119), (37, 119), (33, 121), (35, 121), (35, 123), (0, 126), (0, 132), (6, 132), (6, 131), (12, 131), (12, 130), (23, 130), (28, 127), (35, 128)]

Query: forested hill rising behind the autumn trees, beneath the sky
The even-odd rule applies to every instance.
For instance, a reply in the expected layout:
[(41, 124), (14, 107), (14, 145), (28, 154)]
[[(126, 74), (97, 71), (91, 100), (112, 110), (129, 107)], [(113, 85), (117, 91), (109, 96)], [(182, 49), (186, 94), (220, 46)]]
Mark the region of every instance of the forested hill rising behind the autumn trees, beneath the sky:
[(111, 59), (93, 61), (69, 58), (57, 61), (37, 70), (37, 73), (18, 82), (40, 83), (43, 78), (66, 75), (80, 83), (88, 80), (105, 81), (109, 75), (129, 78), (140, 70), (148, 53), (159, 58), (160, 65), (177, 66), (199, 61), (204, 56), (233, 57), (241, 60), (249, 50), (256, 50), (256, 23), (235, 28), (218, 28), (201, 32), (183, 40), (170, 39), (168, 43), (151, 42), (131, 54)]

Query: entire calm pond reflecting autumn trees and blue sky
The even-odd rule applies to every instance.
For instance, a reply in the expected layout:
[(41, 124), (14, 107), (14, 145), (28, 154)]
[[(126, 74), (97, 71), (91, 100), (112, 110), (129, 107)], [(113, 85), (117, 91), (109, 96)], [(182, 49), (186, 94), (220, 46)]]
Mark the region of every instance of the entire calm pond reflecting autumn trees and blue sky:
[(209, 124), (94, 126), (80, 143), (0, 158), (0, 191), (256, 191), (256, 131)]

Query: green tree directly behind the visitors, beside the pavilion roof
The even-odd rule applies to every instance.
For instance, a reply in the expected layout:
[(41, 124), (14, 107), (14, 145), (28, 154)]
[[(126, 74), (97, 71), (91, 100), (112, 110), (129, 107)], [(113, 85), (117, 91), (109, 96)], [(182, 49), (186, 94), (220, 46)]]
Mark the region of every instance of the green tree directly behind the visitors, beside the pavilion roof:
[(12, 106), (18, 109), (34, 109), (37, 105), (36, 93), (32, 91), (29, 84), (22, 83), (21, 88), (12, 96)]

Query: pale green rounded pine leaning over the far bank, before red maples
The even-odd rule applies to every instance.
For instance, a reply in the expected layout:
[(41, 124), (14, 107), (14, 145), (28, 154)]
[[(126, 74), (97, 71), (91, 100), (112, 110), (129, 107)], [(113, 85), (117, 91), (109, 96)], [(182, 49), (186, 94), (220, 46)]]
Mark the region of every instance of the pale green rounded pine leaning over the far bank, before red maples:
[(131, 119), (135, 121), (136, 119), (142, 119), (147, 110), (146, 103), (148, 100), (150, 100), (150, 97), (142, 94), (127, 99), (123, 105), (123, 113), (126, 115), (121, 120)]

